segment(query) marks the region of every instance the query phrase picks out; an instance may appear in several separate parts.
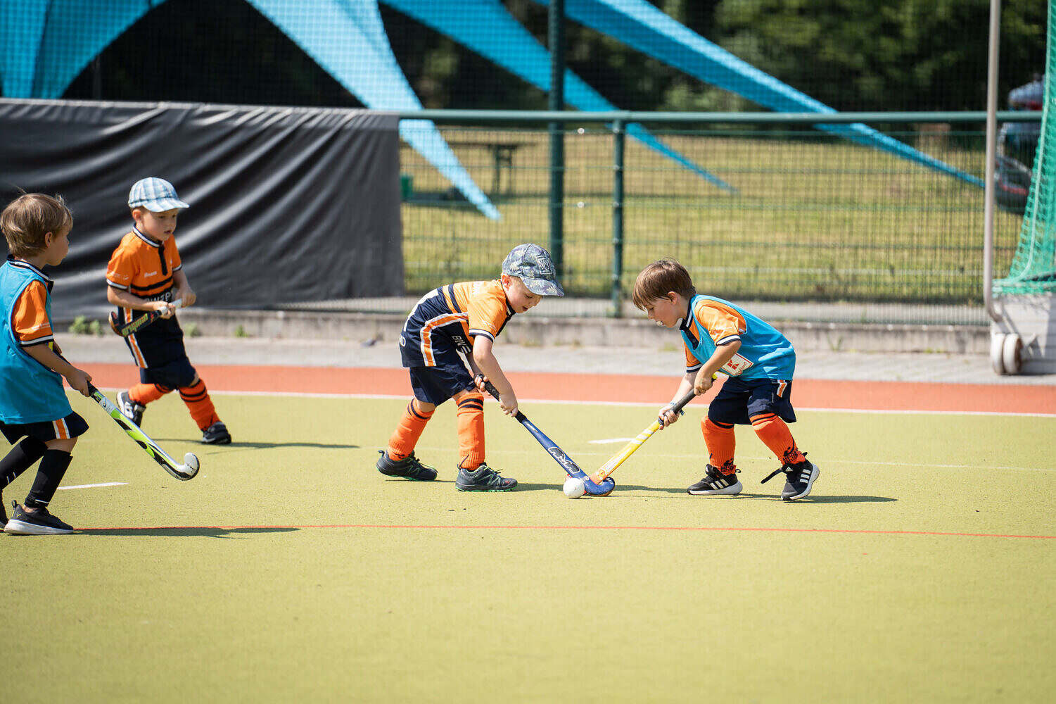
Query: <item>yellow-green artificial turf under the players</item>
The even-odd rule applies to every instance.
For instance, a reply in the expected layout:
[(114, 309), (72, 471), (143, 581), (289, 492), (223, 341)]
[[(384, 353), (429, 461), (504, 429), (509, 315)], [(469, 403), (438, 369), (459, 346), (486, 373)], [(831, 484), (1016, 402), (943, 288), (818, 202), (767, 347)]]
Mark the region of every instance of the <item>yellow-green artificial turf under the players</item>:
[[(454, 488), (453, 408), (418, 446), (432, 483), (374, 469), (406, 402), (218, 395), (144, 429), (177, 482), (84, 399), (53, 512), (86, 531), (0, 536), (18, 701), (1049, 701), (1056, 686), (1054, 418), (803, 412), (821, 466), (782, 503), (738, 428), (744, 492), (691, 497), (700, 406), (569, 500), (560, 467), (486, 405), (510, 494)], [(587, 471), (644, 406), (522, 408)], [(33, 473), (4, 492), (25, 496)], [(226, 526), (226, 527), (223, 527)], [(145, 529), (145, 530), (140, 530)]]

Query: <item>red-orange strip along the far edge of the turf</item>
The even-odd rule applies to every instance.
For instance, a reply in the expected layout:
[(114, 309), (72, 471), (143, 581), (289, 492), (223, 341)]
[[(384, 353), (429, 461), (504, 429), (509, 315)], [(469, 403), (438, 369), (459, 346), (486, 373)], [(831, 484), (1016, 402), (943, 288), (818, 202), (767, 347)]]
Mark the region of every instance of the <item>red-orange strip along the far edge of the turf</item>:
[[(96, 386), (125, 388), (138, 382), (130, 365), (86, 364)], [(213, 391), (272, 393), (381, 394), (410, 396), (407, 370), (390, 368), (197, 366)], [(641, 402), (664, 404), (678, 376), (511, 372), (520, 399), (549, 401)], [(721, 382), (703, 400), (715, 395)], [(796, 379), (797, 408), (855, 410), (968, 411), (1056, 414), (1056, 387), (917, 382), (837, 382)]]

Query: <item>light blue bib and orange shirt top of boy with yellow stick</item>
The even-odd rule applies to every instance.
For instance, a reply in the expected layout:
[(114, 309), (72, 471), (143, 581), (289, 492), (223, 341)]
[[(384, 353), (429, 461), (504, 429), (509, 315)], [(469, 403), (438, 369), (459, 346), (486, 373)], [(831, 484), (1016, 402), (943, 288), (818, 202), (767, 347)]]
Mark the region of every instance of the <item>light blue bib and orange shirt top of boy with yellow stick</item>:
[(730, 301), (701, 294), (690, 301), (687, 313), (678, 328), (685, 342), (686, 372), (700, 369), (717, 345), (739, 339), (740, 349), (719, 371), (744, 379), (792, 379), (795, 350), (768, 322)]

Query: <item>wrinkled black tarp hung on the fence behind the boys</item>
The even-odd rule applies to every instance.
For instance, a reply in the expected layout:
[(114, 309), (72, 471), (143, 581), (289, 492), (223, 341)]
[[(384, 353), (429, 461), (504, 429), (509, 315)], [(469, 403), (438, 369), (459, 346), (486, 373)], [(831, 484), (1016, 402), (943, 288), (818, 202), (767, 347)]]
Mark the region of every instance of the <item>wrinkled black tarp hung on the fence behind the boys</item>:
[[(0, 200), (59, 193), (74, 214), (53, 315), (102, 318), (128, 191), (166, 179), (199, 304), (403, 293), (399, 135), (367, 110), (0, 99)], [(3, 249), (5, 252), (5, 247)]]

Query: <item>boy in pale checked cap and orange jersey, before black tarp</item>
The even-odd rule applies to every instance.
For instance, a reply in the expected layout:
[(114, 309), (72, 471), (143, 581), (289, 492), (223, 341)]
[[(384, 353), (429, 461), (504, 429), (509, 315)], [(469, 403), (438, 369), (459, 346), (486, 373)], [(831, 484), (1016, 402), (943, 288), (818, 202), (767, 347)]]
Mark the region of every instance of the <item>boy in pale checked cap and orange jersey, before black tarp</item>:
[(121, 413), (136, 425), (143, 422), (147, 404), (173, 389), (187, 404), (202, 430), (202, 442), (231, 442), (212, 400), (191, 366), (184, 349), (184, 331), (175, 318), (174, 300), (194, 303), (180, 251), (172, 239), (180, 210), (190, 207), (176, 196), (168, 181), (150, 177), (136, 181), (129, 191), (134, 225), (122, 239), (107, 267), (107, 300), (117, 307), (118, 322), (134, 317), (134, 311), (163, 311), (162, 317), (125, 338), (139, 366), (139, 384), (117, 394)]

